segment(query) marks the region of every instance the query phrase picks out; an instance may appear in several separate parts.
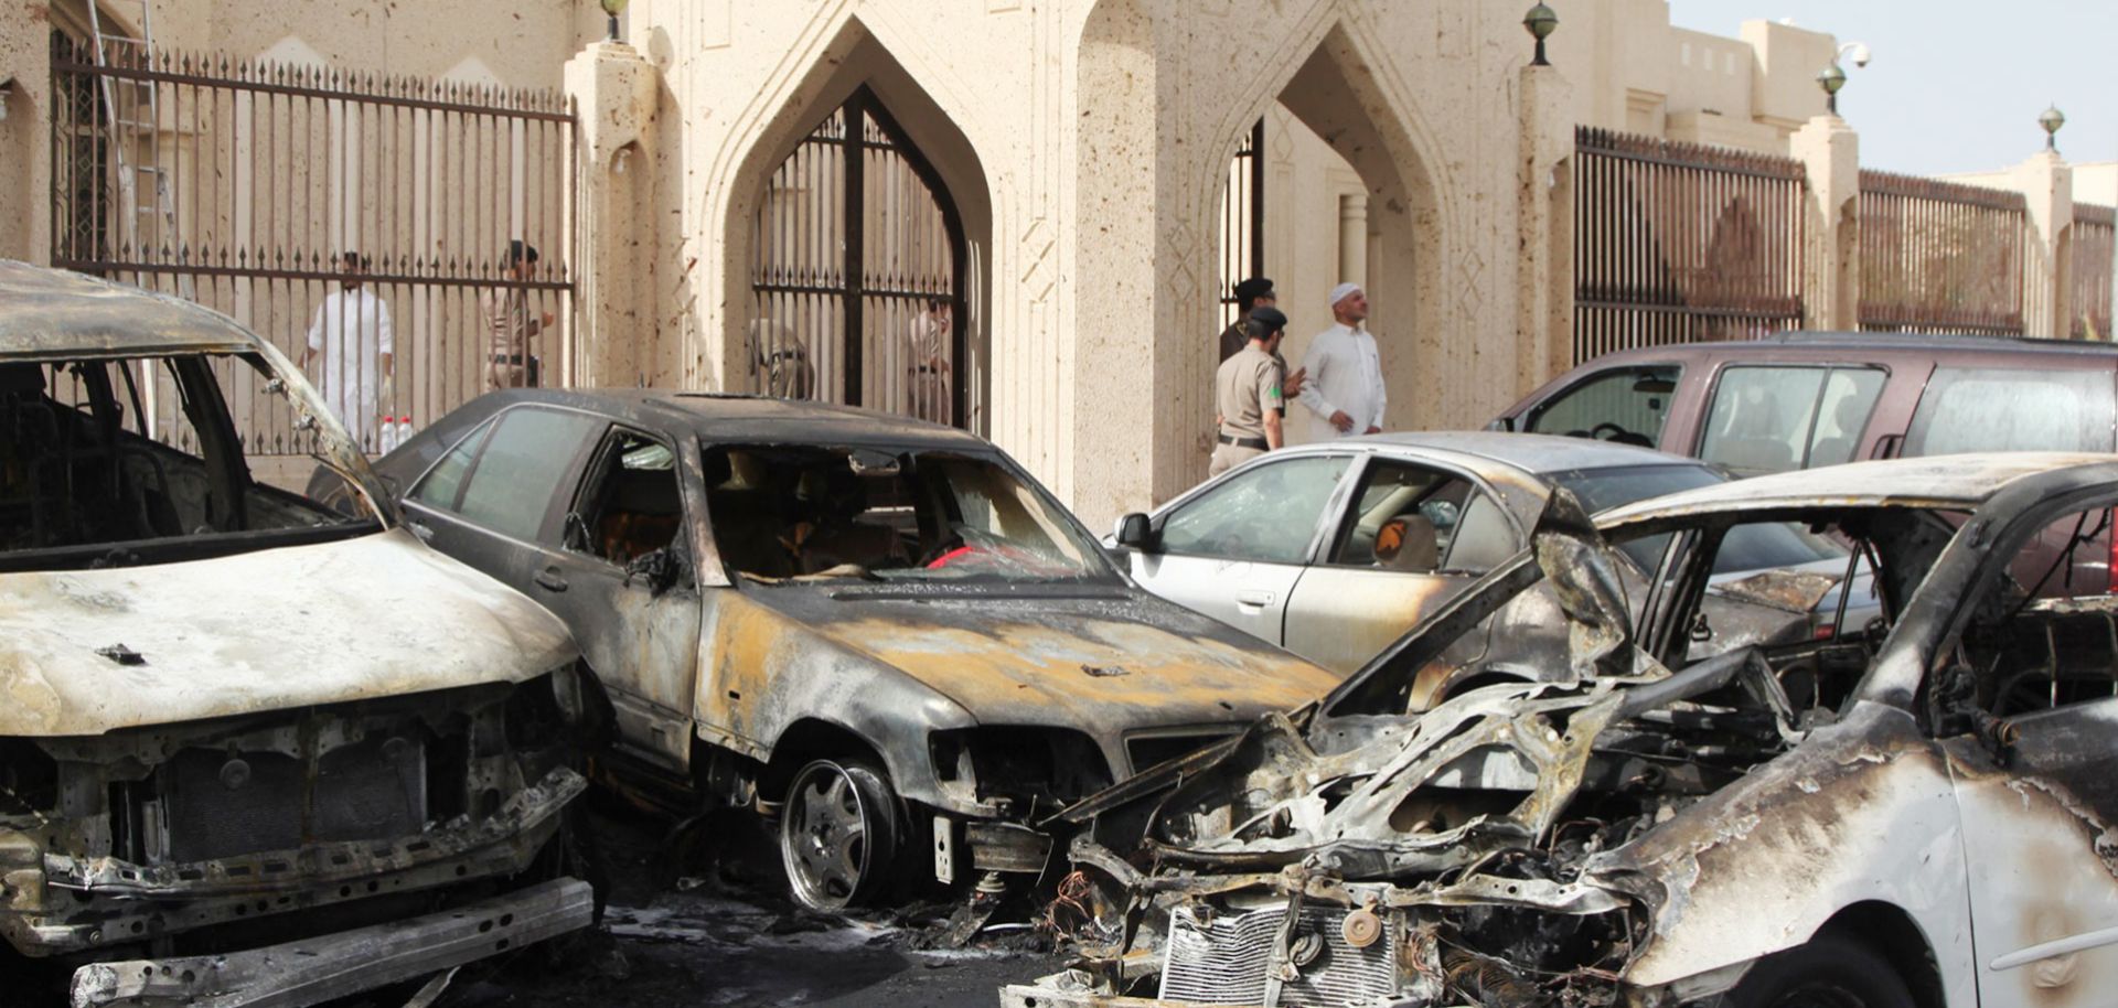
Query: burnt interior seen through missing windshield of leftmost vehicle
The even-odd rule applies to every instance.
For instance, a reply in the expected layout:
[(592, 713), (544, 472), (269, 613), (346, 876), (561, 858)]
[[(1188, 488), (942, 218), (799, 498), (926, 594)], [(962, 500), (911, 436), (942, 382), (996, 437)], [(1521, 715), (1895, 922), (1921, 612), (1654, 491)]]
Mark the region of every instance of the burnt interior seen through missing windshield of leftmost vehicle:
[[(155, 394), (174, 409), (150, 432)], [(203, 356), (0, 364), (0, 570), (199, 559), (375, 527), (252, 481), (227, 415)]]

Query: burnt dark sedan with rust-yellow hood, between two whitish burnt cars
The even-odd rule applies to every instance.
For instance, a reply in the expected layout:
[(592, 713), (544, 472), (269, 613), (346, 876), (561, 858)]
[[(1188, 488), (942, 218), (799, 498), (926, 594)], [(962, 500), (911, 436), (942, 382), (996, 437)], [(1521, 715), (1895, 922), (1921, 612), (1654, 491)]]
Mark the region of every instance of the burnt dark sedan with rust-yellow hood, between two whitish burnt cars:
[(815, 908), (1042, 872), (1025, 822), (1341, 680), (1139, 591), (1006, 453), (907, 417), (496, 392), (379, 470), (574, 629), (597, 777), (777, 820)]

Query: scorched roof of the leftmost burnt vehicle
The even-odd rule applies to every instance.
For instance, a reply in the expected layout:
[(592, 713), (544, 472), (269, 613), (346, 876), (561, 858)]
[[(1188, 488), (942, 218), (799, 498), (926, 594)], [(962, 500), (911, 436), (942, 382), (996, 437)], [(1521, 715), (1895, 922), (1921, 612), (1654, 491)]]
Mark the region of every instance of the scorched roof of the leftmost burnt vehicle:
[(0, 260), (0, 360), (53, 354), (254, 354), (233, 318), (169, 294)]

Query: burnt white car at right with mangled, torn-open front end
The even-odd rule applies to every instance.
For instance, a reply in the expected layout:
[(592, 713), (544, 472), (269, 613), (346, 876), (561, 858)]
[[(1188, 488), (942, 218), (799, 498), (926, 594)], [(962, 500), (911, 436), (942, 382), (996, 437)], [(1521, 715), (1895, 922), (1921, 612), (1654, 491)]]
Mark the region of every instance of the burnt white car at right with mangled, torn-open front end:
[[(2110, 455), (1758, 476), (1603, 536), (1555, 493), (1315, 705), (1061, 813), (1087, 951), (1002, 1004), (2110, 1004), (2118, 597), (2086, 553), (2114, 506)], [(1881, 620), (1692, 659), (1713, 555), (1766, 521), (1851, 540)], [(1644, 540), (1629, 618), (1610, 542)], [(1525, 604), (1565, 644), (1487, 669)], [(1406, 714), (1432, 669), (1470, 671)]]

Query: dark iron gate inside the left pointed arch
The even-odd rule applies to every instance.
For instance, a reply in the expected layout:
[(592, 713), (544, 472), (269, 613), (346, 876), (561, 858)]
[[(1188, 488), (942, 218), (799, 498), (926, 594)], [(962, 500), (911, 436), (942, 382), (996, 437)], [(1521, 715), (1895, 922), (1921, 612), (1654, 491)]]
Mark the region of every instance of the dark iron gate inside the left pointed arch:
[(750, 292), (754, 388), (964, 426), (964, 222), (870, 89), (773, 172)]

